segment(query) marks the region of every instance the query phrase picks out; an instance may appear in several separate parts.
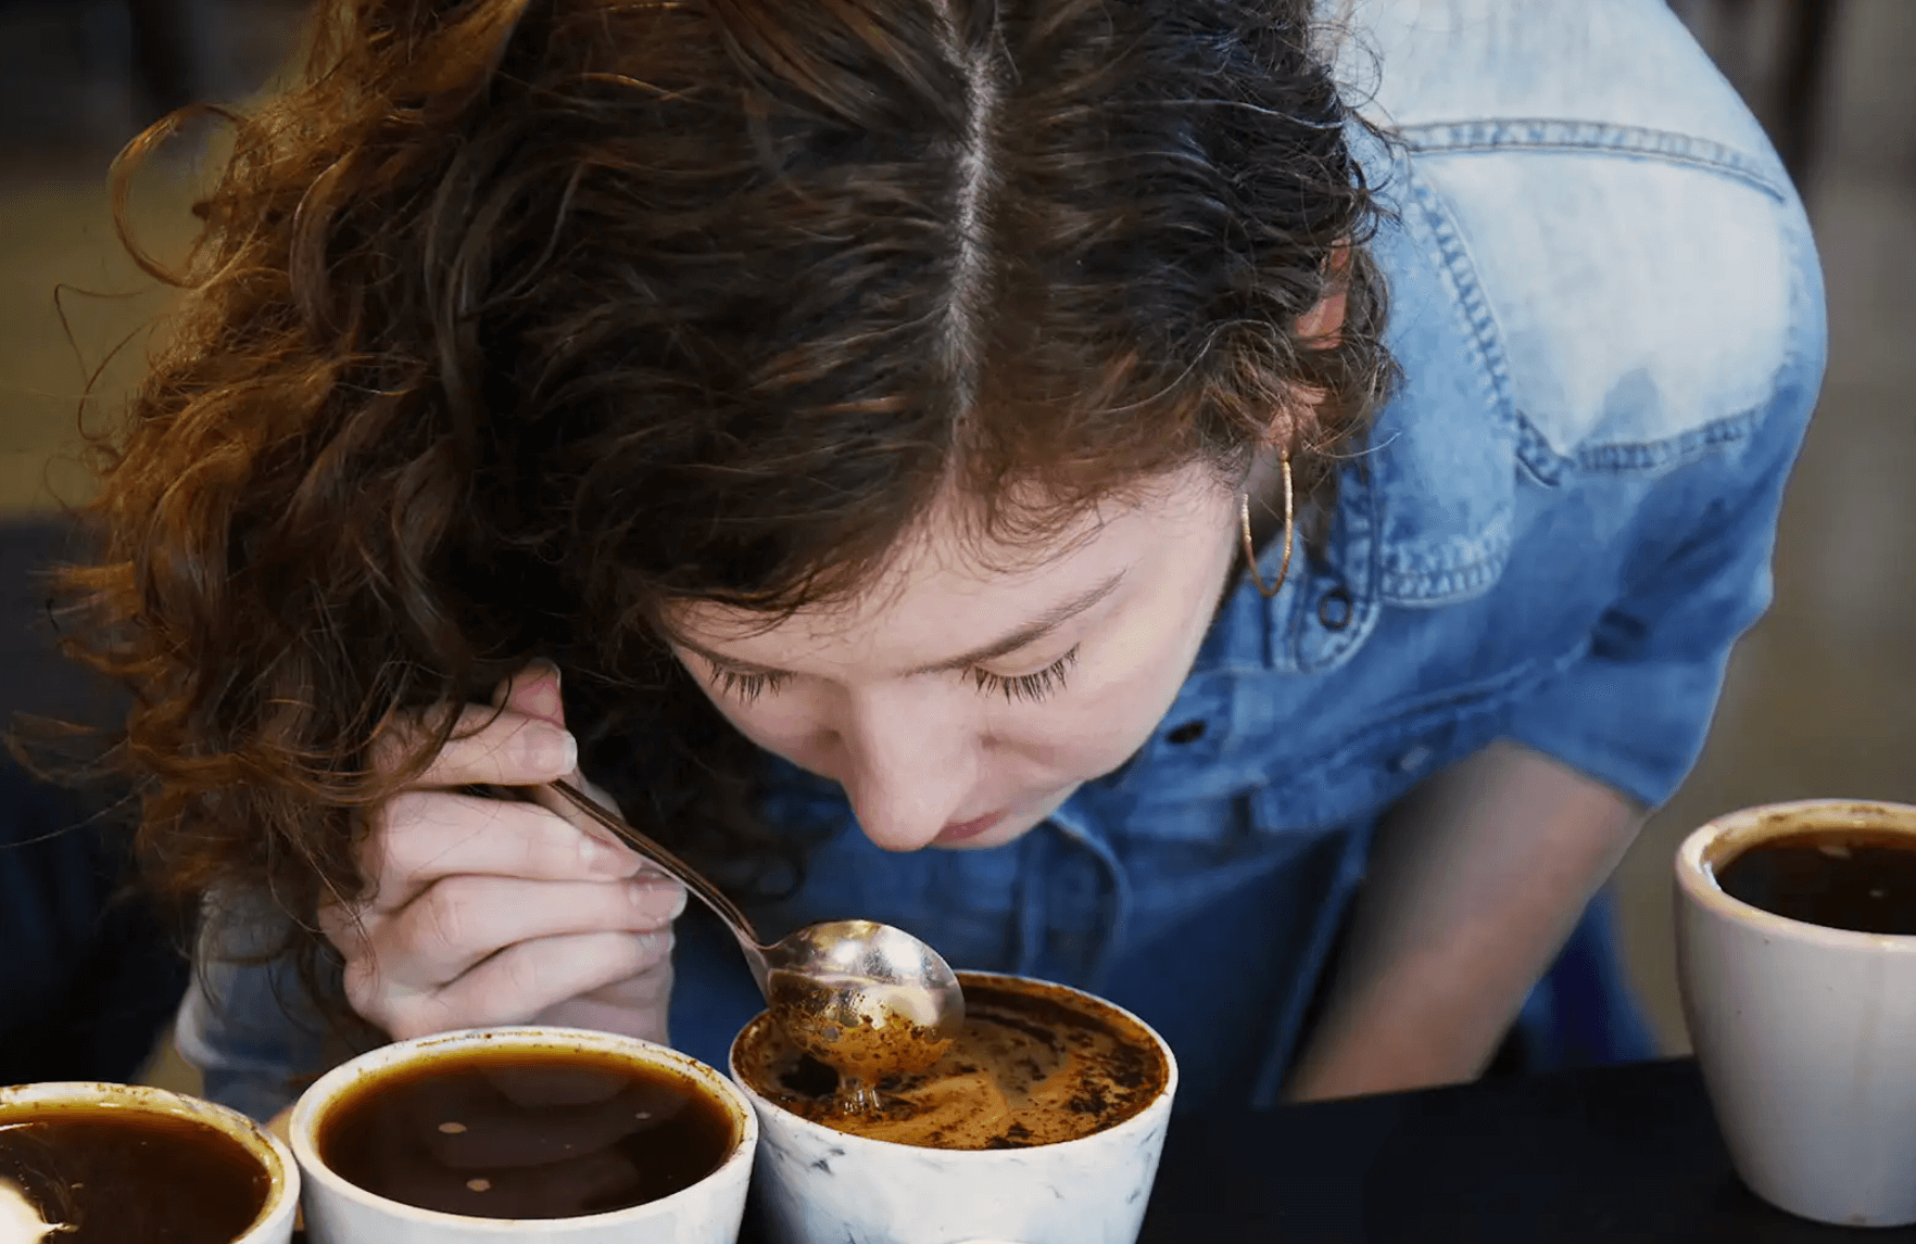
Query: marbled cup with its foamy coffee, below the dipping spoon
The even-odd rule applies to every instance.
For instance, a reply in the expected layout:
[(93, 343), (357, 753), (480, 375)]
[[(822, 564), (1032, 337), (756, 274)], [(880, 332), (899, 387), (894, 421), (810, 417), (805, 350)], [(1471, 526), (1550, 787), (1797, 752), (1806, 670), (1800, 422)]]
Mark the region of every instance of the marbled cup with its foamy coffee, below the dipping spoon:
[(960, 972), (966, 1028), (849, 1112), (832, 1068), (761, 1014), (732, 1043), (759, 1110), (776, 1244), (1125, 1244), (1144, 1221), (1178, 1068), (1140, 1018), (1077, 989)]

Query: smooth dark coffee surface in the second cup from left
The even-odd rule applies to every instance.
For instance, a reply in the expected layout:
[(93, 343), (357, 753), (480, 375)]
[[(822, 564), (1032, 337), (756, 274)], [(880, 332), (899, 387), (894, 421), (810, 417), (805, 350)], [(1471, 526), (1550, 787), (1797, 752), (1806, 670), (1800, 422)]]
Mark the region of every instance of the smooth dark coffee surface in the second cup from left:
[(582, 1051), (452, 1051), (374, 1076), (320, 1120), (320, 1158), (422, 1210), (579, 1217), (718, 1169), (732, 1112), (678, 1072)]

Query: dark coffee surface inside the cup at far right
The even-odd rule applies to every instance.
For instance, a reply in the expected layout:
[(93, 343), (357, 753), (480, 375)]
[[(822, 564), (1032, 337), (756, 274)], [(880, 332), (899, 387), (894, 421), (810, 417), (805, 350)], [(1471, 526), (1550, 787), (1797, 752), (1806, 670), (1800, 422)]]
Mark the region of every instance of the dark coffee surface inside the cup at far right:
[(1916, 834), (1813, 829), (1759, 842), (1715, 873), (1730, 898), (1791, 921), (1916, 934)]

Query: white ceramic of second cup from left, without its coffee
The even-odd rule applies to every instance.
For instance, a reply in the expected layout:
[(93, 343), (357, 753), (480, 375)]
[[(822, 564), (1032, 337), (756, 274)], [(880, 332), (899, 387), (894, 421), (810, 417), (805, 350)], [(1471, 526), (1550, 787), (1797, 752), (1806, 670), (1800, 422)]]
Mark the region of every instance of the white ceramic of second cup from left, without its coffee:
[[(703, 1087), (732, 1116), (732, 1152), (705, 1179), (671, 1196), (563, 1219), (468, 1217), (387, 1200), (341, 1179), (320, 1160), (316, 1137), (328, 1108), (368, 1077), (471, 1051), (582, 1051), (665, 1068)], [(713, 1068), (674, 1049), (581, 1028), (471, 1028), (397, 1041), (345, 1062), (307, 1089), (293, 1108), (293, 1154), (305, 1171), (308, 1244), (468, 1244), (565, 1240), (565, 1244), (734, 1244), (745, 1213), (759, 1120), (745, 1097)]]

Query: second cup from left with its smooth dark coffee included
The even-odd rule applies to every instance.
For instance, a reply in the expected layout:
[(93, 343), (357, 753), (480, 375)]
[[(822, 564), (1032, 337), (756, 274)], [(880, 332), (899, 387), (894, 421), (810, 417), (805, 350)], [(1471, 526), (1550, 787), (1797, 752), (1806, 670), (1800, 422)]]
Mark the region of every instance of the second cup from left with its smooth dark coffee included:
[(481, 1028), (333, 1068), (291, 1135), (310, 1244), (732, 1244), (759, 1125), (663, 1045)]

